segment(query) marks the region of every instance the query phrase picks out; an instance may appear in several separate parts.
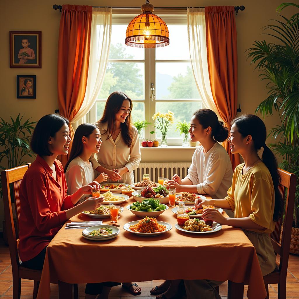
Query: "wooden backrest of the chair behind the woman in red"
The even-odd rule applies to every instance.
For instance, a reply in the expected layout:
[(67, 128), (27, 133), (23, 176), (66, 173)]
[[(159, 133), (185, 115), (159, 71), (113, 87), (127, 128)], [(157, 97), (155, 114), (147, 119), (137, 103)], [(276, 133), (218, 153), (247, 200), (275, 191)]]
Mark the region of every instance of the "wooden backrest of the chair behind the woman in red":
[(20, 197), (19, 187), (24, 177), (25, 172), (28, 170), (31, 164), (18, 166), (11, 169), (6, 169), (1, 172), (2, 179), (2, 192), (4, 202), (4, 215), (7, 229), (7, 239), (10, 252), (10, 260), (13, 271), (17, 271), (20, 265), (19, 263), (19, 239), (16, 238), (16, 230), (13, 221), (13, 211), (11, 208), (11, 196), (10, 196), (10, 184), (13, 187), (13, 198), (15, 202), (16, 218), (17, 218), (17, 230), (19, 233), (19, 216), (20, 216)]

